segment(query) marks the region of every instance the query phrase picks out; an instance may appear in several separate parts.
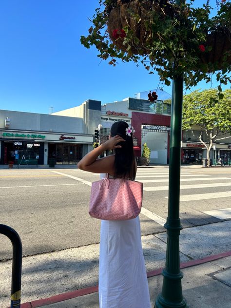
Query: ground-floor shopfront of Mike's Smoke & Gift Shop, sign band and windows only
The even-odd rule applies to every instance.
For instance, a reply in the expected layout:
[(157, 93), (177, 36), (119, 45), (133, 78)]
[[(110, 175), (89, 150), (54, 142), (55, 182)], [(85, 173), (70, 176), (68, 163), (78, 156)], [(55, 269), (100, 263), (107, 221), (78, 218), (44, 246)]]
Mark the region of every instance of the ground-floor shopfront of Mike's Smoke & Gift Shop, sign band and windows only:
[(82, 157), (83, 145), (93, 141), (92, 135), (15, 130), (0, 130), (0, 139), (1, 164), (8, 164), (8, 161), (23, 164), (38, 159), (38, 163), (44, 165), (49, 158), (55, 158), (56, 163), (77, 163)]

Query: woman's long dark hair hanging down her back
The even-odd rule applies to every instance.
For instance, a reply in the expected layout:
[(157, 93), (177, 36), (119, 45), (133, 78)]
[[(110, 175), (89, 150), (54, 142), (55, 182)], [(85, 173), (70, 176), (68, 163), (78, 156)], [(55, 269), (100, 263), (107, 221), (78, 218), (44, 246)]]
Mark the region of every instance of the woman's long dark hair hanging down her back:
[(135, 180), (135, 155), (133, 150), (133, 137), (126, 135), (126, 128), (128, 128), (128, 123), (124, 121), (115, 122), (111, 127), (111, 136), (115, 135), (121, 136), (126, 141), (121, 141), (118, 145), (121, 148), (115, 149), (115, 176), (129, 178), (130, 180)]

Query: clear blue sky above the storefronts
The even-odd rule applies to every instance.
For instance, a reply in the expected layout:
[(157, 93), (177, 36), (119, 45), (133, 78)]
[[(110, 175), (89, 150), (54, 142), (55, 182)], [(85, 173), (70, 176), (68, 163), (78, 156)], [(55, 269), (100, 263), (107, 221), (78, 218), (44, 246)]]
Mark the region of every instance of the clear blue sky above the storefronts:
[(0, 109), (47, 114), (50, 106), (108, 103), (158, 86), (157, 74), (142, 65), (112, 67), (80, 44), (96, 7), (97, 0), (0, 0)]

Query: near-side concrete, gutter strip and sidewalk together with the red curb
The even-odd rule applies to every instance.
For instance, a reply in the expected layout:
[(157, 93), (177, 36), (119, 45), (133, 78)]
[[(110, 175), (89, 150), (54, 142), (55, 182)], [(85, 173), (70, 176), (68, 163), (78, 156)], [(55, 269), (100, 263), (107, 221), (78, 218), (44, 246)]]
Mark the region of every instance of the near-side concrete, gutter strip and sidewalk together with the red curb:
[[(181, 231), (182, 289), (190, 308), (216, 308), (218, 303), (230, 308), (230, 234), (230, 220)], [(162, 287), (166, 242), (165, 232), (142, 236), (152, 307)], [(98, 252), (94, 244), (24, 257), (21, 308), (98, 308)], [(9, 307), (11, 266), (11, 261), (0, 264), (1, 308)]]

